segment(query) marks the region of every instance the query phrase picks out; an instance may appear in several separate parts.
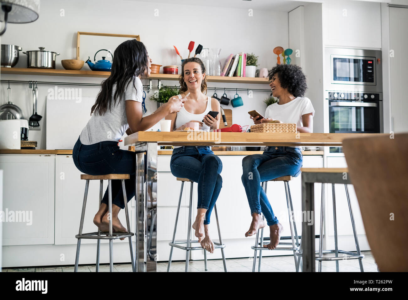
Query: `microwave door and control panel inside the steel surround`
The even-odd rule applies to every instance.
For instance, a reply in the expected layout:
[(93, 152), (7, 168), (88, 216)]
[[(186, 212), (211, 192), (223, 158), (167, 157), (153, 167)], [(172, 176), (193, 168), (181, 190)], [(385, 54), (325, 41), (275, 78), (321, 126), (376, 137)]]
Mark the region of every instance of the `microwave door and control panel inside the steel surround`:
[(375, 58), (331, 56), (331, 82), (375, 85)]

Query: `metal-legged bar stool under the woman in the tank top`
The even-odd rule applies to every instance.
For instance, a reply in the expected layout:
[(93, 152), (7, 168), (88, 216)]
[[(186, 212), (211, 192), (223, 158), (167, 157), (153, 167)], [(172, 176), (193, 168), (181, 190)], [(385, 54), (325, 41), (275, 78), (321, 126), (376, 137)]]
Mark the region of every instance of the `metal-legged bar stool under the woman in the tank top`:
[[(198, 243), (198, 240), (191, 240), (191, 213), (192, 213), (192, 207), (193, 207), (193, 181), (187, 178), (177, 178), (178, 181), (181, 181), (181, 189), (180, 189), (180, 197), (179, 197), (179, 203), (177, 206), (177, 215), (176, 215), (176, 220), (174, 224), (174, 231), (173, 231), (173, 239), (169, 243), (171, 246), (170, 249), (170, 257), (169, 257), (169, 264), (167, 266), (167, 272), (170, 271), (170, 266), (171, 266), (171, 256), (173, 255), (173, 247), (179, 248), (186, 250), (186, 272), (188, 272), (188, 251), (193, 251), (193, 250), (204, 250), (204, 269), (207, 271), (207, 253), (206, 249), (203, 249), (201, 246), (200, 247), (191, 247), (191, 244), (193, 243)], [(180, 205), (181, 205), (181, 197), (183, 194), (183, 187), (184, 187), (184, 182), (191, 182), (190, 186), (190, 204), (188, 208), (188, 229), (187, 229), (187, 239), (186, 240), (175, 240), (176, 236), (176, 229), (177, 229), (177, 221), (179, 217), (179, 212), (180, 212)], [(215, 211), (215, 220), (217, 220), (217, 228), (218, 228), (218, 238), (220, 239), (219, 242), (214, 242), (214, 248), (215, 249), (221, 249), (221, 254), (222, 254), (222, 262), (224, 264), (224, 271), (227, 271), (226, 263), (225, 263), (225, 256), (224, 256), (224, 248), (225, 244), (222, 243), (221, 239), (221, 232), (220, 232), (220, 224), (218, 224), (218, 213), (217, 213), (217, 205), (214, 205), (214, 211)], [(186, 246), (182, 246), (180, 244), (186, 244)]]

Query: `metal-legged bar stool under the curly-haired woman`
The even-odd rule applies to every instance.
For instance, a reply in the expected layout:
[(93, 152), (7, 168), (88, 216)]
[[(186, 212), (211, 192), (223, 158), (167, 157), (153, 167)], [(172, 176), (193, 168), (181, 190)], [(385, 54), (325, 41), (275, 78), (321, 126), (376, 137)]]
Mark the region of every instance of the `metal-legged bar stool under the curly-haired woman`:
[[(296, 257), (296, 251), (299, 250), (299, 237), (297, 236), (297, 229), (296, 229), (296, 223), (295, 219), (293, 216), (293, 204), (292, 204), (292, 197), (290, 196), (290, 189), (289, 189), (289, 181), (292, 180), (292, 176), (282, 176), (278, 177), (272, 180), (268, 181), (283, 181), (285, 184), (285, 191), (286, 191), (286, 203), (288, 205), (288, 216), (289, 216), (289, 227), (290, 227), (290, 238), (292, 240), (291, 243), (288, 242), (279, 242), (279, 245), (281, 246), (286, 246), (286, 247), (279, 247), (279, 245), (275, 248), (275, 250), (289, 250), (293, 251), (293, 258), (295, 259), (295, 267), (296, 270), (298, 269), (298, 264), (300, 262), (300, 258)], [(266, 193), (266, 188), (268, 186), (268, 181), (262, 182), (262, 188), (264, 189)], [(262, 214), (262, 219), (264, 220), (264, 216)], [(259, 231), (261, 231), (261, 239), (260, 241), (258, 240), (259, 238)], [(252, 271), (255, 272), (255, 265), (256, 265), (256, 256), (257, 256), (257, 251), (259, 250), (259, 262), (258, 262), (258, 272), (261, 271), (261, 261), (262, 261), (262, 250), (269, 250), (267, 248), (264, 248), (264, 244), (268, 244), (269, 238), (264, 239), (264, 228), (258, 229), (258, 232), (256, 234), (255, 238), (255, 245), (251, 247), (251, 249), (254, 249), (254, 259), (253, 259), (253, 265), (252, 265)], [(289, 247), (287, 247), (289, 246)]]

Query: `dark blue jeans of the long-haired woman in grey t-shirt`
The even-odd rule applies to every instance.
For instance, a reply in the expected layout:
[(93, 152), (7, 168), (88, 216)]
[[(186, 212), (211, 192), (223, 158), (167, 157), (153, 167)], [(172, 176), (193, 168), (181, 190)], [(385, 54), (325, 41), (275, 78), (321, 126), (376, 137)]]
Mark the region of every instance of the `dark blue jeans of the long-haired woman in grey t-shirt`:
[[(130, 174), (125, 180), (126, 197), (129, 202), (135, 196), (136, 154), (119, 149), (118, 142), (105, 141), (84, 145), (78, 138), (72, 150), (75, 167), (89, 175)], [(112, 180), (112, 204), (124, 209), (122, 180)], [(108, 189), (102, 203), (108, 205)]]

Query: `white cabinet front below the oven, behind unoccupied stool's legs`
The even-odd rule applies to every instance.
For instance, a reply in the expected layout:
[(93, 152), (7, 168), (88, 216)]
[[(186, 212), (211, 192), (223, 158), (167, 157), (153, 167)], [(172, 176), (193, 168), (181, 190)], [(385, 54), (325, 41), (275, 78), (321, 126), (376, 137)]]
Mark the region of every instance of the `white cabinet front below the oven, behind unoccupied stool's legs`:
[[(328, 157), (328, 168), (345, 168), (347, 167), (346, 158), (344, 157)], [(366, 239), (366, 231), (364, 229), (363, 220), (361, 218), (360, 207), (357, 196), (352, 184), (348, 184), (350, 194), (351, 207), (353, 209), (354, 221), (359, 245), (361, 250), (370, 250)], [(334, 224), (333, 224), (333, 197), (332, 185), (326, 184), (326, 238), (329, 248), (333, 247), (334, 243)], [(337, 216), (337, 235), (339, 237), (339, 249), (346, 251), (355, 251), (355, 241), (353, 235), (353, 227), (351, 226), (350, 213), (348, 210), (346, 189), (344, 184), (335, 184), (336, 197), (336, 216)], [(334, 248), (333, 248), (334, 249)]]

